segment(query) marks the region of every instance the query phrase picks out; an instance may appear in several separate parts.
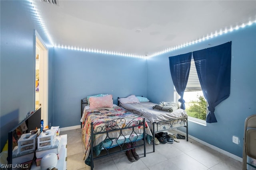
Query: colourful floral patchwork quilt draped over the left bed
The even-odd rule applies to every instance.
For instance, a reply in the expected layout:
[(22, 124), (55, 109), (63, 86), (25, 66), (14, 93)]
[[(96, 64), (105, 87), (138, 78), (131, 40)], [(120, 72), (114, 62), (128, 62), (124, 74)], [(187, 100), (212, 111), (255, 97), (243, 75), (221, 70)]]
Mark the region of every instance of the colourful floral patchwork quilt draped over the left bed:
[[(84, 159), (87, 160), (90, 156), (91, 148), (91, 123), (93, 123), (94, 133), (110, 131), (115, 129), (122, 129), (125, 127), (131, 127), (128, 129), (122, 129), (122, 134), (120, 131), (112, 131), (107, 133), (101, 133), (93, 136), (93, 147), (96, 147), (102, 142), (107, 141), (106, 139), (119, 138), (123, 135), (133, 135), (132, 133), (141, 134), (143, 130), (143, 118), (133, 113), (123, 110), (121, 107), (111, 107), (111, 108), (98, 108), (98, 109), (86, 109), (84, 120), (82, 122), (82, 139), (85, 147)], [(148, 124), (145, 121), (145, 133), (148, 143), (152, 139), (152, 133), (148, 128)], [(132, 126), (142, 125), (135, 128)], [(96, 152), (98, 156), (100, 151)]]

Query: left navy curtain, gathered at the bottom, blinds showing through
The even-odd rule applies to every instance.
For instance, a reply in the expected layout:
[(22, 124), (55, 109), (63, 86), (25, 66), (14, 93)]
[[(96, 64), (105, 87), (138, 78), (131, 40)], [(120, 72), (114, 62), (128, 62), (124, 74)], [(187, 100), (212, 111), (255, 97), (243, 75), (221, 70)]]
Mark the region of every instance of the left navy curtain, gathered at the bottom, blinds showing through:
[(191, 56), (192, 53), (186, 53), (169, 57), (172, 81), (177, 93), (180, 95), (180, 99), (178, 101), (181, 103), (181, 109), (185, 109), (185, 101), (183, 99), (183, 95), (188, 82)]

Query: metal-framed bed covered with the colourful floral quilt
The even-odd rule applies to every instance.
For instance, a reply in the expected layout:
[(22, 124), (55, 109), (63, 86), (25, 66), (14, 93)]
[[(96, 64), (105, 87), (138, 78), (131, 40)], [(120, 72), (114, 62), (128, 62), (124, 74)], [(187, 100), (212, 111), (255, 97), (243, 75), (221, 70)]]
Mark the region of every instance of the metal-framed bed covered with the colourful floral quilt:
[[(87, 105), (87, 98), (82, 99), (80, 121), (86, 150), (84, 160), (91, 169), (98, 158), (141, 146), (144, 146), (146, 156), (146, 141), (150, 144), (152, 133), (143, 117), (116, 105), (94, 109)], [(127, 149), (126, 143), (133, 143), (132, 148)]]

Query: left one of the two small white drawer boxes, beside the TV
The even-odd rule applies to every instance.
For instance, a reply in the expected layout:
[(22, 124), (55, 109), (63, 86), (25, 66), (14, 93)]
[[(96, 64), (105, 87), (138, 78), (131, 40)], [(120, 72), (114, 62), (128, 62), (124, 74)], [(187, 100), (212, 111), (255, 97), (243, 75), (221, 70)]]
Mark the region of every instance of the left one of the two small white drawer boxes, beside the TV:
[(37, 133), (24, 133), (18, 140), (18, 153), (36, 149), (36, 136)]

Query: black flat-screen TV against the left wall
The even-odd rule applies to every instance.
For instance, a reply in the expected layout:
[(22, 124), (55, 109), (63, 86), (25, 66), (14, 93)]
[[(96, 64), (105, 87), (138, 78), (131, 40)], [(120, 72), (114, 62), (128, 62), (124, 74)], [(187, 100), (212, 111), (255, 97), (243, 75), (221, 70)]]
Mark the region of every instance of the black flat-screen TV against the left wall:
[[(18, 145), (18, 143), (13, 143), (13, 139), (18, 142), (18, 139), (21, 135), (17, 134), (17, 129), (22, 129), (22, 125), (26, 124), (26, 130), (22, 131), (22, 133), (29, 133), (32, 130), (40, 129), (41, 127), (41, 107), (36, 111), (32, 112), (28, 117), (26, 117), (23, 121), (21, 121), (18, 125), (16, 125), (9, 133), (8, 133), (8, 165), (12, 165), (12, 150), (15, 147), (14, 145)], [(15, 165), (13, 165), (15, 166)], [(8, 169), (12, 169), (10, 166)]]

